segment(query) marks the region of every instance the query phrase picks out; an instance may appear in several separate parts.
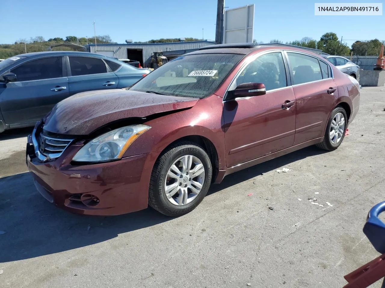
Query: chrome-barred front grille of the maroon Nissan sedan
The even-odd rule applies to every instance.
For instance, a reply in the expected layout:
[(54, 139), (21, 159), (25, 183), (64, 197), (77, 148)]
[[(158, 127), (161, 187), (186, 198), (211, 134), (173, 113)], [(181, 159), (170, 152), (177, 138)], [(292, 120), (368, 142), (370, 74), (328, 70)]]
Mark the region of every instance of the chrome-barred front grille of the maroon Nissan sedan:
[(51, 159), (55, 159), (62, 155), (63, 151), (73, 139), (60, 139), (54, 138), (40, 133), (38, 139), (39, 151), (44, 156), (48, 156)]

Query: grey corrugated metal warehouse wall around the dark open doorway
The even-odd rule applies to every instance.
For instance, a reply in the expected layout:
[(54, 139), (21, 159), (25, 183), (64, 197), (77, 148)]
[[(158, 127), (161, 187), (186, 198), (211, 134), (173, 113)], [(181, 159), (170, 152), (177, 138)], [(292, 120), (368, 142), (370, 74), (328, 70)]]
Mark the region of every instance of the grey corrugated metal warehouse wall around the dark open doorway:
[[(143, 61), (149, 64), (151, 55), (156, 51), (175, 51), (175, 50), (198, 50), (204, 46), (213, 45), (210, 41), (175, 42), (175, 43), (142, 43), (142, 44), (99, 44), (96, 51), (113, 51), (114, 57), (127, 59), (127, 49), (142, 49)], [(95, 53), (95, 45), (88, 45), (87, 51)]]

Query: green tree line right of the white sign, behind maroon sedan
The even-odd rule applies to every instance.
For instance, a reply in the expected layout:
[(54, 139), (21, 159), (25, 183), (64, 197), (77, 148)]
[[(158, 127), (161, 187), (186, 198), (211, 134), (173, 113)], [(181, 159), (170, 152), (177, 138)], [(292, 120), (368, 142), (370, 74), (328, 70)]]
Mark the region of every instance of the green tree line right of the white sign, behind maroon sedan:
[[(256, 40), (254, 40), (254, 43), (263, 44), (263, 42)], [(278, 39), (270, 40), (269, 43), (283, 44), (283, 42)], [(340, 40), (338, 38), (336, 33), (328, 32), (322, 35), (319, 41), (310, 37), (303, 37), (301, 40), (294, 40), (286, 42), (285, 44), (319, 49), (330, 55), (348, 56), (350, 53), (353, 53), (353, 55), (359, 56), (377, 56), (380, 52), (381, 45), (384, 44), (384, 41), (381, 42), (378, 39), (370, 41), (355, 41), (352, 47), (349, 47), (346, 45), (346, 42), (343, 42), (342, 39)]]

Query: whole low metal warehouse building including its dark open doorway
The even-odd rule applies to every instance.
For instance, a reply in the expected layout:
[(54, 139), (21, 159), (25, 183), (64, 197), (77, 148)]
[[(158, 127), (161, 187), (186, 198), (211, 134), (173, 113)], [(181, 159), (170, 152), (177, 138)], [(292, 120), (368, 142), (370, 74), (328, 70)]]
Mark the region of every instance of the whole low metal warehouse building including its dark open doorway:
[(89, 44), (85, 46), (91, 53), (98, 53), (118, 59), (139, 61), (142, 67), (151, 63), (154, 52), (163, 52), (169, 60), (176, 56), (189, 53), (204, 46), (213, 45), (211, 41), (191, 41), (173, 43), (129, 43), (129, 44)]

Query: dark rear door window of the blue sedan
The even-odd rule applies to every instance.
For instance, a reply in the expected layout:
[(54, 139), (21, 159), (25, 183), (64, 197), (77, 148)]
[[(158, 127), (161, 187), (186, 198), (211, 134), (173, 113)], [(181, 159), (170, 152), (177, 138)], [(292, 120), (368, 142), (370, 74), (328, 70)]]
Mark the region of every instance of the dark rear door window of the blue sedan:
[(69, 56), (71, 75), (91, 75), (107, 73), (105, 63), (100, 58)]

